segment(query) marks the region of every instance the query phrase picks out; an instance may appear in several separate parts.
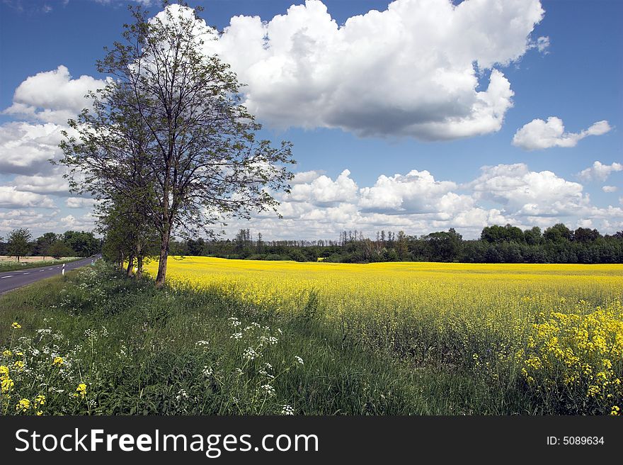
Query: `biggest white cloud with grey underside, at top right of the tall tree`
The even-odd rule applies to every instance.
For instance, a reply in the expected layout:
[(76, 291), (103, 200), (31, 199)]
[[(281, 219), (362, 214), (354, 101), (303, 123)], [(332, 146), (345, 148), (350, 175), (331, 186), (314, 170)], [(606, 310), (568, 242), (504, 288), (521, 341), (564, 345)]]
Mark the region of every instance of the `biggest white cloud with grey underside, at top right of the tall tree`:
[(396, 0), (338, 26), (307, 0), (267, 22), (235, 16), (205, 47), (232, 64), (248, 108), (275, 127), (454, 139), (501, 128), (513, 91), (495, 67), (536, 47), (543, 14), (539, 0)]

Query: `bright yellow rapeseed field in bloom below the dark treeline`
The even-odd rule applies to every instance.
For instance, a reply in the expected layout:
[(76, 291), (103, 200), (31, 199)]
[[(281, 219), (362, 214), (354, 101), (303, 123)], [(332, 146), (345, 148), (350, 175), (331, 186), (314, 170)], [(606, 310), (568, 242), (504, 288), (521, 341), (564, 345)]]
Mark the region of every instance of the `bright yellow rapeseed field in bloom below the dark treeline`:
[(168, 279), (257, 311), (321, 315), (362, 344), (469, 365), (488, 382), (517, 374), (565, 412), (618, 413), (623, 403), (623, 265), (171, 257)]

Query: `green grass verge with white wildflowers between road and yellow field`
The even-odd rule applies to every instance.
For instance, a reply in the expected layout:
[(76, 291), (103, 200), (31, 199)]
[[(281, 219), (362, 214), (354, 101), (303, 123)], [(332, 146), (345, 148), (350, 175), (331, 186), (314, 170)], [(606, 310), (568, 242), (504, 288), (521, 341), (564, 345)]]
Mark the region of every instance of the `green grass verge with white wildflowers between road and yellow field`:
[[(271, 336), (275, 344), (258, 347)], [(17, 413), (18, 400), (30, 399), (30, 414), (532, 412), (523, 396), (491, 392), (451, 366), (416, 366), (346, 336), (313, 312), (268, 315), (214, 291), (158, 290), (88, 267), (0, 298), (0, 349), (12, 352), (0, 364), (15, 384), (0, 405)]]

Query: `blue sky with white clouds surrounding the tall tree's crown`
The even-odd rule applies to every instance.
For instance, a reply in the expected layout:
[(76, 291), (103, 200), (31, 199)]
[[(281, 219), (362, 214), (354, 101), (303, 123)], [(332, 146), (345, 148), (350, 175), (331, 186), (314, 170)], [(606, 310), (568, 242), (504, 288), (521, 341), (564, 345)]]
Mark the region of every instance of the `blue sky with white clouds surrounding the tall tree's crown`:
[[(285, 219), (234, 220), (230, 230), (331, 239), (450, 227), (476, 237), (505, 222), (623, 229), (622, 2), (522, 0), (499, 13), (495, 0), (389, 3), (190, 1), (219, 30), (234, 16), (265, 22), (232, 22), (215, 52), (249, 84), (263, 135), (294, 142), (303, 173), (292, 196), (278, 194)], [(93, 228), (88, 200), (64, 191), (45, 159), (58, 156), (54, 131), (78, 108), (76, 93), (103, 79), (95, 60), (130, 21), (125, 6), (0, 0), (0, 235)], [(268, 55), (244, 56), (257, 44), (241, 31), (270, 31)], [(308, 74), (292, 77), (275, 60)], [(481, 108), (490, 82), (511, 94), (493, 89)], [(398, 128), (402, 115), (413, 124)]]

